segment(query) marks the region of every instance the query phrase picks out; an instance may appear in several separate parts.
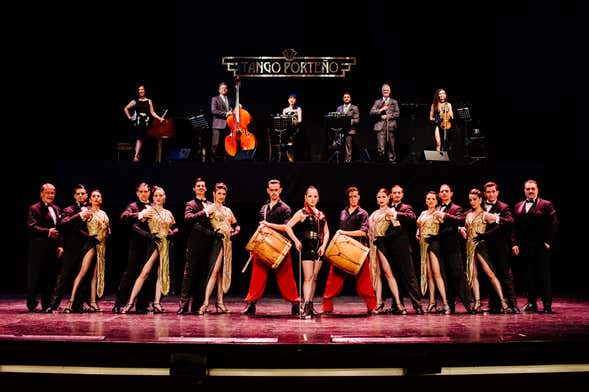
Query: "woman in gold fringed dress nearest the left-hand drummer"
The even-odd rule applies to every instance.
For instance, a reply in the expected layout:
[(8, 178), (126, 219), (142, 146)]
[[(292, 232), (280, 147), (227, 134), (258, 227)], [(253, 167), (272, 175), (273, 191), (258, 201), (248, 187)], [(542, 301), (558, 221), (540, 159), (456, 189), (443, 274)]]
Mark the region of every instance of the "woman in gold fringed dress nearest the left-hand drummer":
[[(222, 246), (216, 246), (211, 253), (212, 272), (209, 275), (207, 286), (205, 289), (204, 302), (199, 308), (197, 314), (203, 315), (208, 312), (209, 298), (213, 293), (215, 286), (217, 287), (217, 301), (215, 302), (215, 309), (217, 312), (229, 313), (229, 310), (223, 302), (223, 294), (229, 290), (231, 286), (231, 237), (239, 233), (239, 225), (237, 219), (233, 215), (233, 211), (229, 207), (225, 207), (225, 198), (227, 197), (227, 185), (222, 182), (215, 184), (214, 203), (206, 207), (207, 214), (211, 220), (211, 225), (216, 232), (223, 235)], [(218, 240), (216, 240), (218, 241)]]

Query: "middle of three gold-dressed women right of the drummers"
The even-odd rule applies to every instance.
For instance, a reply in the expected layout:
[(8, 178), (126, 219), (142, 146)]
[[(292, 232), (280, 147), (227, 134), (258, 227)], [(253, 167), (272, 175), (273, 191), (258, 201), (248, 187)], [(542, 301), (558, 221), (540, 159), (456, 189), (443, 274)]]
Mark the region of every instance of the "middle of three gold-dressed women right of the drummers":
[(417, 236), (419, 239), (419, 248), (421, 250), (421, 293), (429, 292), (428, 313), (437, 311), (436, 305), (436, 288), (442, 298), (444, 314), (450, 314), (450, 306), (446, 298), (446, 284), (440, 269), (438, 258), (439, 244), (435, 240), (438, 235), (440, 221), (434, 217), (436, 206), (438, 204), (437, 194), (429, 191), (425, 196), (427, 210), (423, 211), (417, 218)]

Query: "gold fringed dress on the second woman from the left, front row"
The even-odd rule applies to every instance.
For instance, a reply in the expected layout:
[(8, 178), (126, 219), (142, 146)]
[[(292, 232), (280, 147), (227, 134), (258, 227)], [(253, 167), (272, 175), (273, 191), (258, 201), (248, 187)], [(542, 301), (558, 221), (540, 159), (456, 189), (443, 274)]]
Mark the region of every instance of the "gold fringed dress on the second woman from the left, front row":
[(170, 227), (176, 221), (172, 213), (165, 208), (152, 206), (156, 214), (147, 222), (150, 233), (157, 233), (161, 241), (157, 244), (159, 255), (158, 278), (162, 286), (162, 294), (167, 295), (170, 291), (170, 240), (168, 234)]

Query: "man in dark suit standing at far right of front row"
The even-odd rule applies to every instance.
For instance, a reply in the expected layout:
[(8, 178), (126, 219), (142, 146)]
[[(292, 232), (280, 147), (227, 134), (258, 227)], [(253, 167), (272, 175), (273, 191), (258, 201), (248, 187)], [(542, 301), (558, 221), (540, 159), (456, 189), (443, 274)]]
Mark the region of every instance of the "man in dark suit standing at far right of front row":
[(542, 296), (544, 313), (552, 313), (552, 282), (550, 249), (558, 228), (552, 203), (538, 197), (538, 183), (524, 184), (526, 200), (515, 205), (515, 221), (511, 236), (511, 250), (523, 262), (528, 281), (526, 312), (537, 312), (538, 294)]

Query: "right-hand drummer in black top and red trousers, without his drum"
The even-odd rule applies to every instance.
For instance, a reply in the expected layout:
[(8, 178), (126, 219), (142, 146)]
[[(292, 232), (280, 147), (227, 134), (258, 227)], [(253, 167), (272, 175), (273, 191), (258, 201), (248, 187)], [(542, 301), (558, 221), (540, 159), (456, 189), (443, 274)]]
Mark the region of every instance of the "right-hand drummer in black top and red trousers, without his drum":
[[(346, 189), (347, 207), (340, 213), (340, 225), (336, 235), (355, 237), (364, 245), (368, 244), (368, 212), (360, 207), (360, 192), (358, 188), (351, 186)], [(364, 263), (360, 272), (356, 275), (356, 291), (366, 302), (368, 314), (378, 314), (376, 310), (376, 297), (370, 279), (370, 263)], [(323, 294), (323, 313), (333, 312), (333, 297), (337, 296), (344, 287), (346, 273), (340, 268), (331, 265), (329, 277)]]

